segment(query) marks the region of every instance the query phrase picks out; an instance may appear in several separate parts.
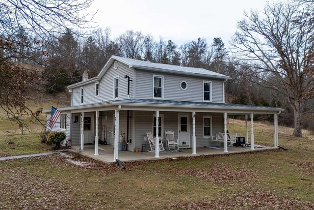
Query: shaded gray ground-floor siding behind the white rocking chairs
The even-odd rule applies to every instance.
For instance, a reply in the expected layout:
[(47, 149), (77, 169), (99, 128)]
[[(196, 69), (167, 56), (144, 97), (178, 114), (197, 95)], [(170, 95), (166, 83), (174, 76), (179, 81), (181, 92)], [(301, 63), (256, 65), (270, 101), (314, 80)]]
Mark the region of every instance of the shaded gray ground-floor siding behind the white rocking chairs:
[[(154, 111), (135, 112), (135, 147), (141, 148), (142, 144), (146, 144), (146, 150), (150, 150), (148, 141), (144, 141), (146, 132), (153, 133), (153, 115)], [(178, 138), (178, 114), (189, 114), (189, 132), (190, 132), (190, 147), (192, 147), (192, 114), (184, 112), (159, 112), (163, 115), (163, 131), (162, 138), (164, 138), (165, 131), (174, 131), (175, 138)], [(195, 137), (196, 147), (221, 146), (221, 142), (210, 141), (209, 138), (204, 138), (203, 116), (211, 116), (212, 121), (212, 135), (215, 136), (223, 131), (223, 114), (222, 113), (196, 113), (195, 118)]]

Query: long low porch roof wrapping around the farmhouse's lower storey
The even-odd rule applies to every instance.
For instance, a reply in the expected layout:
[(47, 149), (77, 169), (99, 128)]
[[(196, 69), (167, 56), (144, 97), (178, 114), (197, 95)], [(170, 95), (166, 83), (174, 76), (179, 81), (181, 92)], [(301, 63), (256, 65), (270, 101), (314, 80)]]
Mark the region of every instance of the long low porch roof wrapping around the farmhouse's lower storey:
[[(234, 114), (276, 114), (284, 111), (282, 108), (263, 107), (253, 105), (240, 104), (224, 104), (224, 103), (210, 103), (210, 102), (192, 102), (192, 101), (171, 101), (171, 100), (154, 100), (154, 99), (126, 99), (105, 101), (100, 103), (90, 103), (86, 105), (63, 107), (60, 111), (71, 110), (73, 112), (80, 111), (102, 111), (114, 110), (116, 106), (121, 106), (121, 110), (159, 110), (159, 111), (180, 111), (180, 112), (216, 112), (216, 113), (234, 113)], [(44, 112), (51, 112), (45, 110)]]

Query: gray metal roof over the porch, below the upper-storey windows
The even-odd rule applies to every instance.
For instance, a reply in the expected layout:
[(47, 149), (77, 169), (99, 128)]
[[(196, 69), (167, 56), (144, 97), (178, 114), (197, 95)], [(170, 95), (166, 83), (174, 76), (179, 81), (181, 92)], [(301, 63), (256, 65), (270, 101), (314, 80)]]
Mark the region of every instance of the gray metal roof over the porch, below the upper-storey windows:
[[(72, 107), (59, 108), (61, 111), (66, 110), (83, 110), (92, 109), (106, 106), (127, 106), (127, 107), (149, 107), (149, 108), (167, 108), (180, 111), (182, 109), (198, 109), (216, 112), (228, 112), (229, 113), (244, 113), (244, 112), (254, 112), (265, 114), (267, 112), (277, 113), (284, 111), (282, 108), (276, 107), (263, 107), (263, 106), (253, 106), (253, 105), (240, 105), (240, 104), (224, 104), (224, 103), (210, 103), (210, 102), (191, 102), (191, 101), (169, 101), (169, 100), (154, 100), (154, 99), (126, 99), (126, 100), (114, 100), (114, 101), (104, 101), (99, 103), (91, 103), (86, 105), (78, 105)], [(132, 108), (130, 108), (132, 110)], [(50, 112), (50, 110), (45, 110), (44, 112)]]

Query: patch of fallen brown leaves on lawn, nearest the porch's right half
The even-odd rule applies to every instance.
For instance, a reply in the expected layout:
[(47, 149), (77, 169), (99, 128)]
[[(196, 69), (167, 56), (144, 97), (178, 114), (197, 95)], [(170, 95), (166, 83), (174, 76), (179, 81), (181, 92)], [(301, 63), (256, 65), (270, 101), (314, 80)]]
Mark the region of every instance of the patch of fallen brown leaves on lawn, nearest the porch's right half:
[(205, 181), (211, 181), (215, 184), (241, 184), (251, 185), (255, 182), (258, 170), (252, 169), (232, 169), (224, 164), (215, 163), (205, 169), (190, 169), (186, 167), (176, 167), (175, 169), (167, 169), (167, 171), (199, 177)]

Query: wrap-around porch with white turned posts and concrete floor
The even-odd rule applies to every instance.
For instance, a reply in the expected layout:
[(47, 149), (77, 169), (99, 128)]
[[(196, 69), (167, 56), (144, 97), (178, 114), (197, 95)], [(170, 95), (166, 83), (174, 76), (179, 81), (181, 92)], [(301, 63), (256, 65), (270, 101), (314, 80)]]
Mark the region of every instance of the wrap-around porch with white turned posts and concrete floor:
[[(219, 107), (197, 107), (197, 106), (171, 106), (171, 104), (160, 104), (159, 105), (153, 105), (149, 104), (148, 106), (143, 106), (143, 104), (138, 103), (130, 103), (130, 100), (128, 102), (119, 102), (117, 104), (110, 104), (110, 107), (103, 107), (103, 108), (93, 108), (93, 109), (82, 109), (81, 110), (81, 121), (80, 121), (80, 150), (84, 150), (84, 113), (85, 112), (93, 112), (95, 113), (95, 145), (94, 145), (94, 152), (91, 151), (90, 146), (87, 150), (84, 150), (84, 154), (87, 156), (94, 156), (96, 159), (102, 159), (105, 162), (115, 162), (117, 159), (120, 159), (121, 161), (132, 161), (132, 160), (143, 160), (143, 159), (155, 159), (155, 158), (168, 158), (168, 157), (179, 157), (179, 156), (196, 156), (196, 155), (203, 155), (203, 154), (217, 154), (217, 153), (232, 153), (232, 152), (243, 152), (248, 150), (257, 150), (257, 148), (254, 147), (254, 114), (272, 114), (274, 116), (274, 147), (278, 147), (278, 118), (277, 115), (280, 114), (279, 109), (269, 109), (263, 107), (263, 109), (259, 109), (255, 106), (252, 107), (238, 107), (238, 106), (228, 106), (226, 107), (226, 104), (219, 104)], [(144, 104), (145, 105), (145, 104)], [(103, 148), (99, 148), (99, 115), (100, 111), (106, 111), (106, 110), (114, 110), (114, 150), (112, 150), (112, 147), (110, 150), (104, 150)], [(118, 143), (119, 143), (119, 114), (121, 110), (128, 110), (128, 112), (131, 111), (150, 111), (155, 113), (154, 120), (156, 119), (155, 125), (154, 125), (154, 133), (156, 134), (156, 145), (159, 143), (159, 112), (185, 112), (189, 113), (192, 118), (192, 132), (191, 132), (191, 150), (183, 150), (182, 152), (178, 153), (162, 153), (160, 154), (158, 147), (156, 147), (156, 150), (154, 153), (150, 152), (131, 152), (131, 151), (119, 151), (118, 150)], [(76, 110), (78, 112), (80, 110)], [(223, 115), (223, 133), (224, 133), (224, 139), (223, 141), (223, 150), (210, 150), (209, 148), (197, 148), (196, 147), (196, 123), (195, 119), (197, 118), (198, 113), (220, 113)], [(227, 140), (227, 115), (228, 114), (237, 114), (237, 115), (245, 115), (245, 140), (246, 143), (250, 143), (250, 148), (235, 148), (231, 147), (228, 148), (228, 140)], [(250, 116), (251, 120), (251, 127), (250, 130), (248, 128), (248, 116)], [(128, 122), (129, 123), (129, 122)], [(136, 126), (136, 125), (134, 125)], [(249, 137), (250, 132), (250, 139)], [(214, 135), (211, 133), (211, 135)], [(210, 141), (210, 138), (208, 139)], [(212, 139), (211, 139), (212, 140)], [(263, 150), (265, 148), (258, 148), (258, 150)], [(269, 148), (268, 148), (269, 149)], [(148, 149), (146, 149), (148, 150)], [(94, 153), (92, 155), (92, 153)], [(101, 156), (101, 157), (100, 157)], [(110, 160), (111, 159), (111, 160)]]

